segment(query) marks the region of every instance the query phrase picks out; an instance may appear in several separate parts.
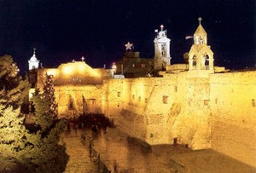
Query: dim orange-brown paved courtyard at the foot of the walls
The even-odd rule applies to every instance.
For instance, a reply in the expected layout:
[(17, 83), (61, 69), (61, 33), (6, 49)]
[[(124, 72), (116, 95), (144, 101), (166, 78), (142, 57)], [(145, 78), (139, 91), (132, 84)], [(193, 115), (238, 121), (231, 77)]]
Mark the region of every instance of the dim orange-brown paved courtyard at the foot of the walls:
[(95, 134), (91, 130), (72, 130), (62, 134), (70, 160), (65, 172), (96, 172), (96, 164), (90, 162), (89, 148), (84, 147), (80, 136), (90, 136), (94, 148), (108, 170), (118, 172), (256, 172), (256, 169), (230, 159), (212, 150), (192, 151), (186, 147), (171, 145), (153, 146), (152, 153), (143, 153), (140, 147), (129, 144), (127, 135), (118, 128), (107, 133)]

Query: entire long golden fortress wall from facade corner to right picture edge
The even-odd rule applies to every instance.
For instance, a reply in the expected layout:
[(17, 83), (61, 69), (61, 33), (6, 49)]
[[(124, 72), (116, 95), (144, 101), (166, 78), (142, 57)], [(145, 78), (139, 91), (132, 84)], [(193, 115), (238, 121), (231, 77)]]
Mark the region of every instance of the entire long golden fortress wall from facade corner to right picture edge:
[(195, 74), (105, 81), (104, 113), (150, 144), (212, 148), (255, 166), (256, 72)]

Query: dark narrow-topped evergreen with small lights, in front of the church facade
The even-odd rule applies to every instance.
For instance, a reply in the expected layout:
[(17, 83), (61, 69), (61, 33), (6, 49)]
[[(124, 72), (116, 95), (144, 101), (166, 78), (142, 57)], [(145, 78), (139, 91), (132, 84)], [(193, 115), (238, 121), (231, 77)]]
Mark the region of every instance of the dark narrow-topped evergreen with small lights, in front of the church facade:
[[(68, 156), (66, 147), (58, 144), (65, 122), (56, 118), (56, 104), (52, 77), (47, 76), (44, 93), (36, 91), (32, 97), (35, 107), (34, 122), (37, 126), (34, 134), (27, 136), (31, 150), (26, 156), (32, 159), (32, 167), (37, 172), (62, 172), (65, 170)], [(54, 108), (53, 108), (54, 107)]]

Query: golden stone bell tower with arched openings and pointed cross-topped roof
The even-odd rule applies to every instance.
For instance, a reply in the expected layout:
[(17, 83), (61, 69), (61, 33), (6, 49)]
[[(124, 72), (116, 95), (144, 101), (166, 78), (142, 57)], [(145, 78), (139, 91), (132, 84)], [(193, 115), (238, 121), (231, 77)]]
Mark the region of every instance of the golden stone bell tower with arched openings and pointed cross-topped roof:
[(194, 44), (189, 50), (189, 71), (207, 70), (213, 72), (213, 52), (207, 45), (207, 32), (201, 26), (201, 17), (199, 26), (194, 33)]

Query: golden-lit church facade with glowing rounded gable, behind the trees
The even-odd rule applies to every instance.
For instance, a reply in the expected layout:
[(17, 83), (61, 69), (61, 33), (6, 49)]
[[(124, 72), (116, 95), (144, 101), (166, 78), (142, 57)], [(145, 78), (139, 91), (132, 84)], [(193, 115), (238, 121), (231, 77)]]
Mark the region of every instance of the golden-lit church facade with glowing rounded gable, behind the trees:
[(84, 61), (40, 69), (37, 88), (41, 91), (46, 73), (54, 76), (55, 100), (60, 118), (79, 117), (83, 112), (103, 113), (103, 80), (110, 78), (109, 70), (91, 68)]

